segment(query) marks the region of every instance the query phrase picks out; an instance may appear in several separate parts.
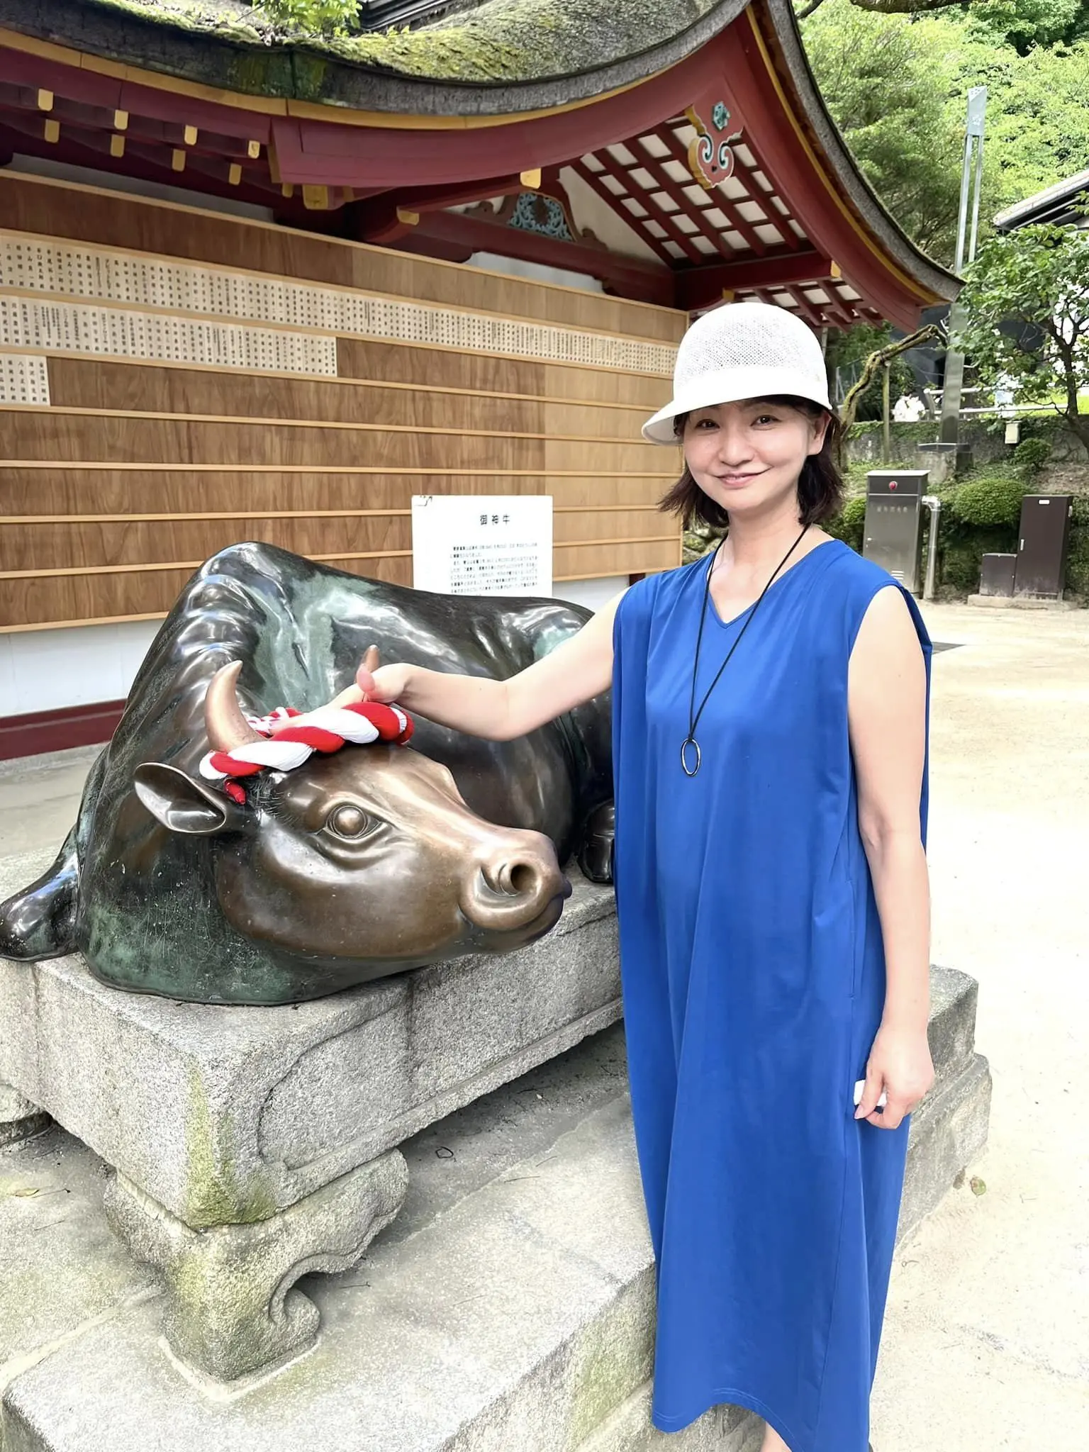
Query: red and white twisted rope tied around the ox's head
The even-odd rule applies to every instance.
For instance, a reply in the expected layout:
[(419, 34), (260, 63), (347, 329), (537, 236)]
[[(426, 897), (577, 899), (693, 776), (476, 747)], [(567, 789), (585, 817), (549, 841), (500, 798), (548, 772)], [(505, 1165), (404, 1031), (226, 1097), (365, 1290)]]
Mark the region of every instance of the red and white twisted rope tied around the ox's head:
[(200, 775), (206, 781), (224, 784), (224, 791), (235, 802), (245, 793), (232, 777), (253, 777), (258, 771), (292, 771), (308, 761), (315, 751), (340, 751), (346, 742), (367, 746), (375, 741), (404, 746), (412, 735), (412, 719), (399, 706), (380, 701), (354, 701), (350, 706), (322, 706), (306, 713), (305, 726), (285, 726), (273, 735), (273, 726), (302, 716), (290, 706), (277, 706), (270, 716), (247, 716), (250, 726), (264, 741), (245, 742), (231, 751), (209, 751), (200, 759)]

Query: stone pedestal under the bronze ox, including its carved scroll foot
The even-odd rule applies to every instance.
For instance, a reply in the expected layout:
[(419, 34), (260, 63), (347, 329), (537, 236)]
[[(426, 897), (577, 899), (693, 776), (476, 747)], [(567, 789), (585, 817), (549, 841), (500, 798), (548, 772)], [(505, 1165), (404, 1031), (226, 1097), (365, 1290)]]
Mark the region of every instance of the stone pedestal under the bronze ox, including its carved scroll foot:
[(619, 1015), (613, 893), (576, 878), (518, 953), (295, 1006), (123, 993), (77, 955), (0, 960), (0, 1082), (116, 1170), (107, 1211), (164, 1275), (173, 1353), (237, 1382), (312, 1345), (295, 1281), (346, 1269), (396, 1215), (401, 1141)]

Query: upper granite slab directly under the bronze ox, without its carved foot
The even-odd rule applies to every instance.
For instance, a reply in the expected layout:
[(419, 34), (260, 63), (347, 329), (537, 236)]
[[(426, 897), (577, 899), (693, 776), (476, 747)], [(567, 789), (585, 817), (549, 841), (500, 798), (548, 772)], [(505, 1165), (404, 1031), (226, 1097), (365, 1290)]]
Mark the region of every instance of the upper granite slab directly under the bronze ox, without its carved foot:
[(620, 1016), (613, 892), (574, 889), (518, 953), (293, 1006), (126, 993), (78, 955), (0, 960), (0, 1082), (195, 1230), (264, 1220)]

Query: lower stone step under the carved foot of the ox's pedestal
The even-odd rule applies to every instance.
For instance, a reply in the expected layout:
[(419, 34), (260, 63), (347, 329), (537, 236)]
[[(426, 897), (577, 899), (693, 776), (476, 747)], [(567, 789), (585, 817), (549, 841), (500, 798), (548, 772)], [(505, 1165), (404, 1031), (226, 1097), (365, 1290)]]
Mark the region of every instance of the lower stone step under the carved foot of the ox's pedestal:
[[(939, 1080), (915, 1118), (902, 1230), (986, 1137), (974, 996), (964, 974), (935, 970)], [(653, 1266), (620, 1050), (616, 1025), (408, 1141), (405, 1214), (354, 1270), (308, 1278), (317, 1349), (242, 1394), (183, 1372), (160, 1340), (161, 1298), (141, 1301), (131, 1282), (83, 1330), (54, 1317), (35, 1349), (25, 1327), (3, 1452), (664, 1448), (648, 1417)], [(58, 1233), (20, 1244), (29, 1255), (36, 1239), (48, 1265)], [(752, 1452), (758, 1436), (755, 1419), (717, 1407), (668, 1440)]]

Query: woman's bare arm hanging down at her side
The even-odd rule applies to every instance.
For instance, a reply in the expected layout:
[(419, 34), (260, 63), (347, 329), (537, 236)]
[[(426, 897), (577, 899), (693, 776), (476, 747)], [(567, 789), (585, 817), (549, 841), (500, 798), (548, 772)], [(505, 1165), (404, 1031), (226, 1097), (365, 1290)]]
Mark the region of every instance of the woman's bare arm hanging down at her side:
[[(929, 884), (919, 832), (926, 751), (926, 669), (897, 590), (874, 595), (851, 653), (851, 751), (858, 828), (881, 921), (886, 996), (858, 1117), (894, 1130), (934, 1079), (926, 1044)], [(886, 1089), (889, 1104), (876, 1114)]]

